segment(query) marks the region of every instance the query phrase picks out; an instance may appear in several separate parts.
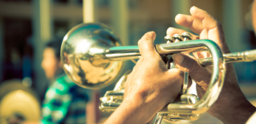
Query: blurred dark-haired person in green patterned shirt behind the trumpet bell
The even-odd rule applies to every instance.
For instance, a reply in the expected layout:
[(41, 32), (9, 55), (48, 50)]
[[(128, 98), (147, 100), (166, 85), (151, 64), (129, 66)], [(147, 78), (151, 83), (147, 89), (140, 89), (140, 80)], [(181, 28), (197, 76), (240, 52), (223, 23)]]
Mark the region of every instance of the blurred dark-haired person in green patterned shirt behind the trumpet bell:
[(89, 91), (77, 86), (64, 74), (60, 60), (61, 44), (62, 39), (49, 41), (43, 52), (42, 68), (50, 83), (42, 103), (40, 123), (84, 124)]

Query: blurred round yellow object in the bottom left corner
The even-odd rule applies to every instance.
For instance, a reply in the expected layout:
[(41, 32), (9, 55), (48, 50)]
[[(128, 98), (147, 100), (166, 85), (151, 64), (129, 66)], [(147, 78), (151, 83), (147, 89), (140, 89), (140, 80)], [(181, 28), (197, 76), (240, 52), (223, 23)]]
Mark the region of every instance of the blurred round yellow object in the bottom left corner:
[[(39, 121), (41, 107), (37, 97), (30, 92), (28, 87), (19, 88), (22, 90), (15, 89), (19, 81), (8, 82), (0, 88), (7, 91), (0, 101), (0, 123), (8, 123), (8, 120), (13, 117), (21, 118), (22, 121)], [(3, 89), (7, 85), (14, 88)]]

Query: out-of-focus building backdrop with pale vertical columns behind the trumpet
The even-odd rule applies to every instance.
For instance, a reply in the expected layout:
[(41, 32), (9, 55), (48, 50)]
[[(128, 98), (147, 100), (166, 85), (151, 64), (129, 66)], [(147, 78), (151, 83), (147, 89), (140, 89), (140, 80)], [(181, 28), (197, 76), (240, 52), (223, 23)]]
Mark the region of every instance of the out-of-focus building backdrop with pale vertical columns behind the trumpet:
[[(46, 41), (64, 37), (86, 16), (91, 17), (89, 14), (93, 14), (92, 21), (105, 23), (116, 30), (124, 45), (137, 45), (148, 31), (156, 32), (155, 43), (165, 43), (163, 37), (167, 28), (182, 28), (174, 22), (175, 15), (189, 14), (190, 7), (197, 6), (222, 23), (231, 52), (255, 49), (255, 33), (250, 22), (252, 2), (94, 0), (84, 3), (83, 10), (82, 0), (0, 0), (0, 86), (4, 81), (19, 79), (23, 85), (31, 87), (35, 96), (43, 96), (46, 77), (41, 62)], [(131, 63), (128, 68), (133, 66)], [(235, 63), (235, 68), (243, 92), (253, 100), (256, 62)], [(3, 94), (0, 90), (0, 99)]]

